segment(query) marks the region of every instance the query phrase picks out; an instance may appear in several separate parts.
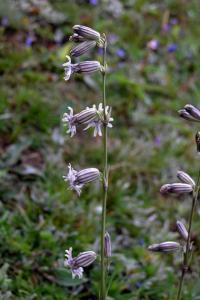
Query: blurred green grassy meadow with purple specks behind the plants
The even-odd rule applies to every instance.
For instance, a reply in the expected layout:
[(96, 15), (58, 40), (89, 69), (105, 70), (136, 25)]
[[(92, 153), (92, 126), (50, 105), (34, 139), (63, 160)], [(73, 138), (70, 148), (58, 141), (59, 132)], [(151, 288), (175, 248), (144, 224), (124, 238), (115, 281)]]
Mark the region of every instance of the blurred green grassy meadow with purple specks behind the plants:
[[(99, 74), (63, 80), (74, 24), (105, 32), (109, 43), (109, 299), (175, 299), (181, 254), (147, 247), (178, 240), (175, 222), (187, 221), (191, 205), (161, 197), (160, 186), (179, 169), (197, 177), (198, 126), (177, 110), (200, 99), (199, 1), (1, 0), (0, 15), (0, 299), (97, 299), (99, 259), (81, 281), (63, 268), (70, 246), (99, 253), (102, 199), (97, 183), (77, 198), (62, 179), (69, 162), (103, 165), (102, 140), (70, 139), (61, 122), (68, 106), (101, 101)], [(200, 299), (199, 214), (184, 300)]]

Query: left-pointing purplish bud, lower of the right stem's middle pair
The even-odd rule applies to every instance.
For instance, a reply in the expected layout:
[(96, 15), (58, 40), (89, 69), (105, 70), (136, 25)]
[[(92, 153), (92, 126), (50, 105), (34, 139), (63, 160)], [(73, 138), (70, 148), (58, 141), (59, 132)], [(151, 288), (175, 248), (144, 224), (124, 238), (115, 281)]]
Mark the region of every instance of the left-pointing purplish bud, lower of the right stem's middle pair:
[(171, 183), (171, 184), (164, 184), (161, 187), (160, 192), (161, 194), (168, 194), (168, 193), (184, 194), (184, 193), (191, 193), (192, 190), (193, 188), (190, 184)]

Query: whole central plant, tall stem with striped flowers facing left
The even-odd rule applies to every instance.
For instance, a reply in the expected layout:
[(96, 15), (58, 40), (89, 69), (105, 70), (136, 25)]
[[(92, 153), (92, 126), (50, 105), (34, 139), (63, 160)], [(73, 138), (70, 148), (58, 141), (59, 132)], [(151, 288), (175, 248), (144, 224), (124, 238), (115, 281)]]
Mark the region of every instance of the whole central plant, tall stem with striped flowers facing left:
[[(90, 74), (93, 72), (100, 72), (102, 75), (102, 103), (86, 107), (81, 112), (74, 114), (73, 108), (68, 107), (68, 112), (63, 115), (63, 122), (67, 126), (67, 134), (73, 137), (76, 134), (77, 128), (80, 125), (85, 126), (84, 131), (93, 128), (94, 137), (103, 137), (103, 172), (101, 173), (97, 168), (87, 168), (83, 170), (75, 170), (71, 164), (68, 165), (67, 175), (63, 176), (64, 180), (68, 182), (69, 188), (74, 190), (78, 196), (85, 184), (94, 180), (102, 180), (103, 199), (102, 199), (102, 215), (101, 215), (101, 280), (99, 298), (106, 299), (106, 266), (108, 267), (108, 258), (111, 256), (111, 240), (110, 235), (106, 232), (106, 203), (108, 193), (108, 128), (112, 127), (113, 118), (111, 117), (111, 108), (106, 103), (106, 48), (107, 39), (105, 34), (83, 26), (75, 25), (73, 27), (73, 34), (70, 40), (75, 43), (75, 46), (70, 50), (70, 56), (67, 57), (67, 62), (63, 64), (65, 76), (67, 81), (74, 73)], [(101, 47), (103, 49), (102, 64), (99, 61), (81, 61), (72, 63), (72, 58), (79, 57), (90, 49)], [(72, 248), (66, 250), (64, 265), (70, 268), (72, 277), (81, 278), (83, 268), (87, 267), (96, 259), (96, 253), (93, 251), (81, 252), (76, 257), (72, 257)]]

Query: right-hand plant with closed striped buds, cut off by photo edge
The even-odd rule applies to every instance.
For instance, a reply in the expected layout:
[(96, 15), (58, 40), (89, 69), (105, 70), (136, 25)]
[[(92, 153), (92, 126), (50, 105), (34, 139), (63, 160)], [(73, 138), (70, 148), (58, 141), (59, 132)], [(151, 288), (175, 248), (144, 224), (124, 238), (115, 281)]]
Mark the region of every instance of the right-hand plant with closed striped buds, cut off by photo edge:
[[(180, 117), (182, 117), (187, 121), (200, 122), (200, 110), (191, 104), (185, 105), (185, 107), (179, 110), (178, 113)], [(199, 153), (200, 132), (196, 133), (195, 139), (196, 139), (197, 152)], [(181, 221), (179, 220), (176, 221), (176, 229), (182, 239), (182, 243), (179, 244), (174, 241), (167, 241), (159, 244), (150, 245), (148, 249), (154, 252), (182, 251), (183, 253), (182, 271), (181, 271), (177, 298), (176, 298), (177, 300), (180, 300), (182, 295), (184, 278), (186, 273), (189, 270), (192, 253), (193, 253), (193, 242), (191, 238), (192, 222), (193, 222), (193, 217), (194, 217), (194, 213), (195, 213), (195, 209), (196, 209), (196, 205), (200, 193), (200, 170), (196, 182), (193, 180), (193, 178), (190, 177), (190, 175), (188, 175), (183, 171), (177, 172), (177, 178), (180, 180), (180, 182), (164, 184), (160, 188), (160, 192), (163, 195), (175, 194), (181, 196), (187, 194), (192, 198), (191, 210), (190, 210), (187, 228)]]

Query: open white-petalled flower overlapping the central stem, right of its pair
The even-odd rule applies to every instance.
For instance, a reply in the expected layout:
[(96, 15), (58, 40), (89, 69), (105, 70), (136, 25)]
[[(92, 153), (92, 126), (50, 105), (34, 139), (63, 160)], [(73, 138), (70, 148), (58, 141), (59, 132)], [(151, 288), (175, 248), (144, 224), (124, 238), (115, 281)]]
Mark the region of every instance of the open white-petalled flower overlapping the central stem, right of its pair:
[[(96, 109), (96, 105), (93, 105), (94, 109)], [(99, 104), (99, 107), (97, 110), (98, 118), (88, 123), (87, 127), (84, 130), (87, 130), (89, 128), (94, 128), (94, 137), (102, 136), (102, 126), (104, 125), (104, 110), (102, 103)], [(111, 122), (113, 121), (113, 118), (111, 118), (111, 109), (109, 106), (106, 106), (105, 109), (105, 115), (106, 115), (106, 126), (108, 128), (112, 128)]]

